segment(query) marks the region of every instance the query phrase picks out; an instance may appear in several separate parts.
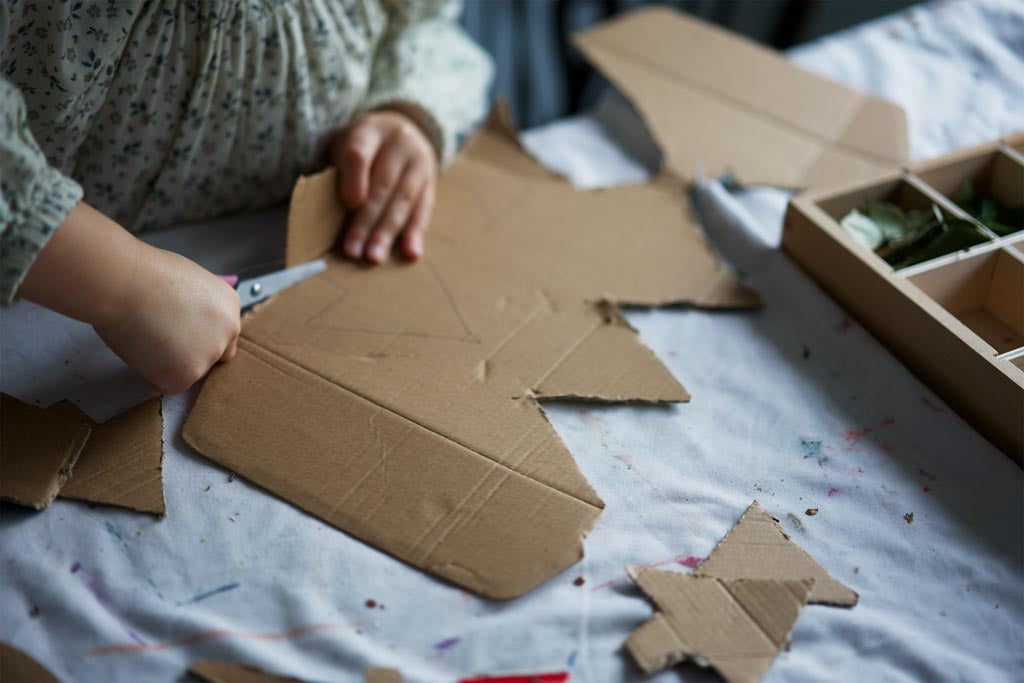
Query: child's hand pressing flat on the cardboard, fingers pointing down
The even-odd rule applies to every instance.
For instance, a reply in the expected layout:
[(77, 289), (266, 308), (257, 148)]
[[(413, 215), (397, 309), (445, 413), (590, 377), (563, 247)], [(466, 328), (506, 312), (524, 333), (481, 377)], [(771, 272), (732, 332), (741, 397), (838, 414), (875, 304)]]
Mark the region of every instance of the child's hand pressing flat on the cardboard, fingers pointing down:
[(400, 236), (408, 258), (423, 256), (437, 181), (437, 158), (423, 130), (398, 112), (374, 112), (338, 131), (331, 155), (350, 211), (345, 255), (381, 263)]

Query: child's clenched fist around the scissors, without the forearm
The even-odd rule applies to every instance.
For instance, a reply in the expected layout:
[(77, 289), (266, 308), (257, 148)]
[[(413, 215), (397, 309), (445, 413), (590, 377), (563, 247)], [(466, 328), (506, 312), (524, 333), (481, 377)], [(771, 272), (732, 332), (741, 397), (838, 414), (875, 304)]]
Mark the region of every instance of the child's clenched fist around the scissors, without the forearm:
[(174, 394), (234, 356), (239, 295), (187, 258), (141, 246), (136, 285), (93, 328), (150, 384)]

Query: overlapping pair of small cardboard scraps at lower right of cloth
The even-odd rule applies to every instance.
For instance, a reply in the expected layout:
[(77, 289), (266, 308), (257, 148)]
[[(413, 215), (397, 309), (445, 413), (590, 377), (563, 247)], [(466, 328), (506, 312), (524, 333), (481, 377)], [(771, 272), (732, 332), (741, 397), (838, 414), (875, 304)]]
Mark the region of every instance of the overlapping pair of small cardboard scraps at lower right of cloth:
[(757, 501), (693, 573), (630, 568), (657, 611), (626, 640), (645, 673), (692, 659), (730, 683), (753, 683), (786, 646), (804, 605), (853, 606)]

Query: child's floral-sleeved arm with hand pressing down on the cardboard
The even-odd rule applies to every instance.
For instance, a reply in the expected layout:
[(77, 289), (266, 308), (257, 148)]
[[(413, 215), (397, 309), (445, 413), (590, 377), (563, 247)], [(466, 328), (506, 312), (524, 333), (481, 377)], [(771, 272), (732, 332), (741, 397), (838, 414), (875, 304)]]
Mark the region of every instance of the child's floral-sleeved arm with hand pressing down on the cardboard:
[[(392, 2), (361, 116), (331, 146), (350, 209), (343, 250), (380, 263), (423, 254), (438, 161), (486, 113), (493, 68), (459, 27), (460, 2)], [(400, 236), (400, 238), (399, 238)]]

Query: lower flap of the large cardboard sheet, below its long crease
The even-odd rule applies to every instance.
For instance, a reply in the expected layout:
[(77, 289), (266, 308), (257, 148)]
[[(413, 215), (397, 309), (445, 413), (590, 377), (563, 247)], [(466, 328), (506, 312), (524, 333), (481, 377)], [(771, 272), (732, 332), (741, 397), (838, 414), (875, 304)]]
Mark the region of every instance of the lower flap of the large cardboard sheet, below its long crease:
[[(229, 374), (238, 373), (248, 378), (244, 393), (232, 391), (228, 379)], [(317, 421), (318, 432), (314, 434), (297, 431), (293, 423), (283, 422), (279, 413), (260, 410), (267, 401), (283, 400), (286, 395), (288, 400), (301, 402), (307, 414), (331, 415), (332, 419)], [(209, 427), (223, 423), (228, 413), (234, 422), (242, 421), (229, 433)], [(368, 435), (365, 425), (371, 415), (380, 417), (376, 418), (375, 432)], [(281, 445), (280, 455), (293, 467), (302, 468), (309, 453), (337, 452), (338, 444), (359, 451), (368, 438), (386, 433), (398, 434), (393, 443), (382, 441), (378, 446), (385, 449), (382, 455), (388, 469), (371, 472), (340, 501), (296, 489), (292, 479), (283, 479), (269, 467), (250, 469), (246, 476), (287, 502), (308, 499), (308, 503), (291, 504), (409, 564), (489, 598), (518, 597), (583, 557), (583, 539), (601, 506), (512, 470), (246, 339), (239, 344), (238, 356), (207, 378), (183, 437), (198, 453), (221, 465), (230, 467), (237, 457), (252, 467), (260, 462), (261, 439), (288, 434), (292, 439)], [(240, 434), (245, 438), (234, 438)], [(429, 482), (424, 479), (424, 454), (433, 459), (433, 480)], [(382, 477), (387, 477), (386, 486)], [(477, 483), (467, 497), (467, 484), (474, 479)], [(415, 501), (409, 501), (403, 490), (417, 492)], [(383, 522), (367, 515), (368, 510), (389, 502), (398, 507), (398, 499), (389, 499), (389, 495), (407, 500), (406, 507), (415, 502), (416, 509), (443, 513), (434, 520), (412, 511), (409, 516), (399, 515), (404, 519), (402, 533), (415, 536), (395, 541), (389, 536), (394, 532), (393, 524), (381, 526)], [(453, 501), (461, 502), (454, 506)], [(507, 520), (517, 518), (523, 510), (544, 514), (534, 526), (508, 526)], [(498, 536), (504, 543), (496, 548), (484, 549), (477, 542)]]

